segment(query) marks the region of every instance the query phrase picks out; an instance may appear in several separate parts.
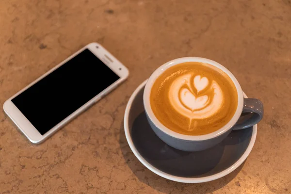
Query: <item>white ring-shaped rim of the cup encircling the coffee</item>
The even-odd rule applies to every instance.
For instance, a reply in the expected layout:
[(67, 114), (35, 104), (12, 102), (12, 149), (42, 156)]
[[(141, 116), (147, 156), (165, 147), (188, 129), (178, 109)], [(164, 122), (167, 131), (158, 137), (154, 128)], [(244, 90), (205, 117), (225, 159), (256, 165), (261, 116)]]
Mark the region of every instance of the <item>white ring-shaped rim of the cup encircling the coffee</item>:
[[(155, 116), (155, 114), (153, 113), (151, 106), (150, 106), (150, 91), (151, 88), (154, 84), (154, 82), (156, 81), (156, 79), (168, 68), (174, 66), (174, 65), (178, 65), (181, 63), (186, 63), (186, 62), (200, 62), (200, 63), (206, 63), (209, 65), (213, 65), (215, 67), (218, 67), (219, 69), (221, 69), (223, 72), (225, 72), (229, 78), (233, 81), (236, 90), (237, 90), (237, 94), (238, 94), (238, 106), (237, 109), (233, 115), (233, 117), (228, 121), (228, 123), (226, 123), (225, 126), (223, 126), (222, 128), (208, 133), (208, 134), (204, 134), (204, 135), (185, 135), (185, 134), (181, 134), (178, 132), (175, 132), (169, 128), (167, 128), (166, 126), (164, 126)], [(228, 70), (226, 69), (225, 66), (212, 61), (210, 59), (206, 59), (206, 58), (201, 58), (201, 57), (182, 57), (182, 58), (178, 58), (178, 59), (174, 59), (172, 61), (169, 61), (163, 65), (161, 65), (159, 68), (157, 68), (149, 77), (148, 81), (146, 82), (146, 86), (145, 86), (145, 92), (143, 95), (143, 100), (144, 100), (144, 107), (145, 107), (145, 111), (147, 116), (149, 117), (149, 119), (153, 122), (153, 124), (160, 130), (162, 130), (164, 133), (166, 133), (167, 135), (170, 135), (171, 137), (177, 138), (177, 139), (182, 139), (182, 140), (190, 140), (190, 141), (203, 141), (203, 140), (208, 140), (208, 139), (212, 139), (215, 137), (218, 137), (222, 134), (224, 134), (226, 131), (228, 131), (229, 129), (231, 129), (235, 123), (239, 120), (241, 113), (242, 113), (242, 108), (243, 108), (243, 93), (242, 93), (242, 88), (241, 85), (239, 84), (239, 82), (237, 81), (237, 79), (234, 77), (234, 75)]]

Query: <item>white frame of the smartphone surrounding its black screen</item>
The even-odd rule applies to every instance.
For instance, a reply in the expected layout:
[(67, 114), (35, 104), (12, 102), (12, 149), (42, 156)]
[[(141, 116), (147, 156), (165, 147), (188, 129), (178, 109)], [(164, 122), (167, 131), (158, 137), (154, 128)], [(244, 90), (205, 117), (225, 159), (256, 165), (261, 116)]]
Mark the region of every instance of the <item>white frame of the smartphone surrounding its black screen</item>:
[[(114, 73), (116, 73), (120, 79), (115, 81), (113, 84), (111, 84), (109, 87), (107, 87), (105, 90), (100, 92), (97, 96), (93, 97), (91, 100), (89, 100), (87, 103), (85, 103), (83, 106), (81, 106), (78, 110), (76, 110), (74, 113), (67, 116), (63, 121), (58, 123), (56, 126), (54, 126), (52, 129), (49, 129), (48, 132), (46, 132), (44, 135), (41, 135), (37, 129), (32, 125), (32, 123), (20, 112), (20, 110), (15, 106), (15, 104), (11, 101), (14, 97), (31, 87), (34, 83), (40, 81), (42, 78), (46, 77), (49, 73), (60, 67), (61, 65), (64, 65), (67, 61), (78, 55), (81, 51), (84, 49), (89, 49), (92, 53), (94, 53), (105, 65), (107, 65), (110, 69), (113, 70)], [(100, 75), (100, 74), (98, 74)], [(82, 49), (78, 50), (74, 54), (72, 54), (70, 57), (65, 59), (60, 64), (56, 65), (52, 69), (50, 69), (48, 72), (46, 72), (44, 75), (36, 79), (35, 81), (32, 81), (29, 85), (27, 85), (25, 88), (17, 92), (15, 95), (10, 97), (8, 100), (6, 100), (3, 104), (4, 112), (11, 118), (11, 120), (16, 124), (16, 126), (20, 129), (20, 131), (33, 143), (33, 144), (39, 144), (46, 140), (49, 136), (51, 136), (53, 133), (55, 133), (58, 129), (62, 128), (66, 123), (68, 123), (70, 120), (72, 120), (74, 117), (82, 113), (84, 110), (86, 110), (88, 107), (93, 105), (95, 102), (100, 100), (102, 97), (104, 97), (106, 94), (111, 92), (116, 86), (118, 86), (121, 82), (125, 81), (127, 77), (129, 76), (128, 69), (120, 63), (110, 52), (108, 52), (106, 49), (104, 49), (100, 44), (98, 43), (90, 43), (83, 47)]]

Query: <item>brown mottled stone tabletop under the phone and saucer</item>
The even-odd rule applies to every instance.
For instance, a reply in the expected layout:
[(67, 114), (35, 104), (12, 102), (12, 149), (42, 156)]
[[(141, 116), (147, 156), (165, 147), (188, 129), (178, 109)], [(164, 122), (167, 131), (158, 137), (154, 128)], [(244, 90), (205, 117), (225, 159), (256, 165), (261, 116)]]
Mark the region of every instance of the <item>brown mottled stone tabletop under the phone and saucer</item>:
[[(90, 42), (129, 68), (128, 81), (37, 146), (0, 111), (0, 194), (291, 193), (290, 0), (0, 0), (0, 106)], [(134, 89), (183, 56), (225, 65), (265, 106), (246, 162), (208, 183), (155, 175), (122, 127)]]

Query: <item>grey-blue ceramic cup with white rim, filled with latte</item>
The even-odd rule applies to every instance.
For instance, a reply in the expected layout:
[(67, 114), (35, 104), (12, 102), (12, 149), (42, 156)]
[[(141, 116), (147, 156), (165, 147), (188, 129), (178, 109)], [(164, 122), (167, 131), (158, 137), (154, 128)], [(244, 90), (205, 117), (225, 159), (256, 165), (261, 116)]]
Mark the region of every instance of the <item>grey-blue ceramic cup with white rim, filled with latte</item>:
[(220, 143), (232, 130), (263, 117), (259, 99), (243, 98), (233, 74), (210, 59), (184, 57), (160, 66), (144, 91), (149, 125), (167, 145), (200, 151)]

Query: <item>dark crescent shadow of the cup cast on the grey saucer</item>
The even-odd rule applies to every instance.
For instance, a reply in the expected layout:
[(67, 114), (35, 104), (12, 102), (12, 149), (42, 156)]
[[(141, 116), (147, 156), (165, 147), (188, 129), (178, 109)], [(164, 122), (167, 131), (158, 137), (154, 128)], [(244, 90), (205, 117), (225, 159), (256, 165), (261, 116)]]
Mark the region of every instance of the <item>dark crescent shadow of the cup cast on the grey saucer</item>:
[(136, 149), (147, 162), (178, 177), (200, 177), (209, 172), (220, 161), (224, 151), (224, 144), (197, 152), (181, 151), (168, 146), (150, 128), (145, 112), (134, 120), (131, 136)]

